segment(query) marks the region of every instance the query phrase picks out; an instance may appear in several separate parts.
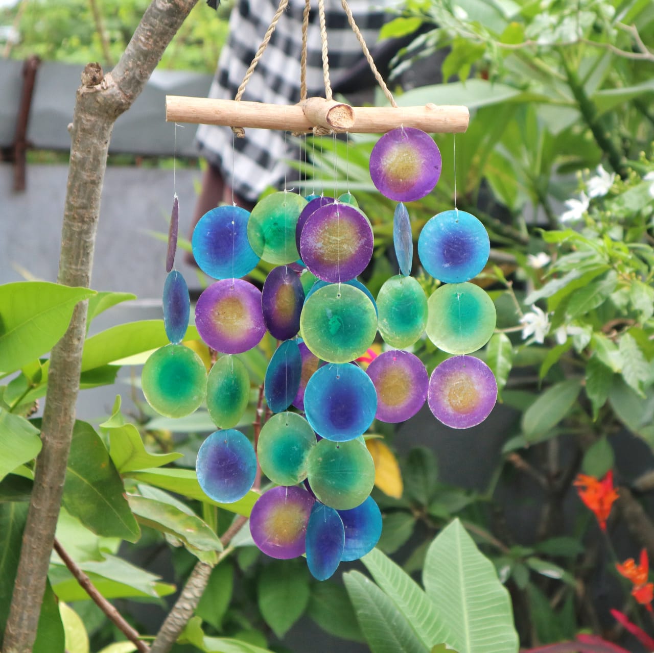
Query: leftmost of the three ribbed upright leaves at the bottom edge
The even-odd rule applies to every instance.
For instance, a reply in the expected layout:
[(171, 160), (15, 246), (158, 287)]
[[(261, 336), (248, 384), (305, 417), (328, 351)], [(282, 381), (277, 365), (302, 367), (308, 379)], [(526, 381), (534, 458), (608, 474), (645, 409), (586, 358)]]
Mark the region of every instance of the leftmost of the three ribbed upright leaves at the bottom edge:
[(369, 578), (349, 571), (343, 580), (372, 653), (428, 652), (402, 612)]

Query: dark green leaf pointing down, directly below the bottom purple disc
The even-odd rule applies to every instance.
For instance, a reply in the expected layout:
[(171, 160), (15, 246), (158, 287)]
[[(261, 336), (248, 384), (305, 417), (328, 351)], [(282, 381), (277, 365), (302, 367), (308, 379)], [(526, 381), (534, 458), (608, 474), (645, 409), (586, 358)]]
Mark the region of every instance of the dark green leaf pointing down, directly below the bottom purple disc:
[(309, 578), (305, 569), (298, 560), (275, 561), (264, 567), (259, 576), (259, 609), (279, 639), (302, 616), (309, 603)]

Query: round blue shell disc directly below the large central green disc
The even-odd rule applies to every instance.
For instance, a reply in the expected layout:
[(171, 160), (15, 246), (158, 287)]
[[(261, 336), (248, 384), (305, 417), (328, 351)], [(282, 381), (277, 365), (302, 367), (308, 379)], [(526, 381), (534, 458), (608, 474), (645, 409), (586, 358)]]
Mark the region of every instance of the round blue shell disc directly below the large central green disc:
[(318, 435), (335, 442), (368, 430), (377, 412), (377, 391), (358, 365), (324, 365), (309, 379), (304, 412)]

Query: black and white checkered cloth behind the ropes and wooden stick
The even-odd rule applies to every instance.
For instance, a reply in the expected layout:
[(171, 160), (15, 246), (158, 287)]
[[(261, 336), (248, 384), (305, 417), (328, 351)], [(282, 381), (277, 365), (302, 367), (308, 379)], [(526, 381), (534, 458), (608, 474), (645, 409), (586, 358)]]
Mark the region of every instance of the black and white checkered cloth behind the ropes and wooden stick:
[[(385, 11), (384, 2), (388, 6), (388, 0), (377, 0), (375, 7), (371, 7), (370, 0), (349, 2), (354, 20), (369, 48), (377, 41), (381, 26), (392, 18)], [(278, 4), (279, 0), (239, 0), (232, 11), (230, 35), (222, 48), (209, 97), (233, 99), (236, 95)], [(279, 19), (250, 77), (243, 100), (279, 105), (300, 101), (304, 4), (303, 0), (289, 0), (286, 12)], [(360, 63), (363, 54), (340, 0), (325, 0), (325, 14), (330, 81), (334, 88), (339, 77), (347, 75)], [(308, 97), (324, 97), (318, 10), (313, 6), (309, 14), (307, 42)], [(283, 131), (247, 128), (244, 139), (233, 139), (230, 127), (202, 125), (197, 140), (201, 156), (220, 169), (235, 193), (249, 201), (256, 201), (269, 186), (279, 186), (288, 171), (284, 159), (290, 156), (291, 139)]]

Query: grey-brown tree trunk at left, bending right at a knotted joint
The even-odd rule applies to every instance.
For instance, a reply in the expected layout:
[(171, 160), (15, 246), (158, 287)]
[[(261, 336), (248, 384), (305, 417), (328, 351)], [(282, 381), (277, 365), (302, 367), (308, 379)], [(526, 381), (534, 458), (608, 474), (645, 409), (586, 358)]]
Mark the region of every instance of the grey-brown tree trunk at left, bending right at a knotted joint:
[[(58, 282), (90, 286), (100, 197), (109, 139), (116, 118), (131, 107), (163, 51), (197, 0), (153, 0), (114, 70), (103, 76), (97, 63), (82, 73), (71, 129), (71, 157), (61, 233)], [(37, 624), (63, 480), (75, 424), (87, 303), (77, 305), (71, 324), (53, 348), (43, 412), (43, 448), (5, 629), (5, 653), (29, 653)]]

